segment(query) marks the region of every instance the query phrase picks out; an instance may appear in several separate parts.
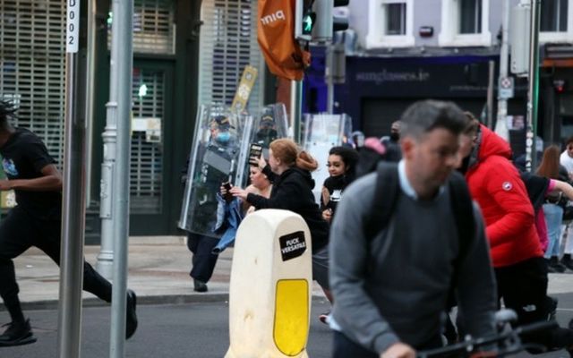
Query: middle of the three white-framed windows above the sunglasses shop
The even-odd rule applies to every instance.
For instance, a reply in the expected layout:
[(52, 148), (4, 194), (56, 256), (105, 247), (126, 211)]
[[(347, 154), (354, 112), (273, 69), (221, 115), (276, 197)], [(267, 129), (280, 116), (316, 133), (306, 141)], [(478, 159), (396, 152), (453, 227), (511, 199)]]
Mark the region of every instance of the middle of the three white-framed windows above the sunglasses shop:
[(490, 0), (441, 0), (440, 46), (491, 46), (489, 15)]

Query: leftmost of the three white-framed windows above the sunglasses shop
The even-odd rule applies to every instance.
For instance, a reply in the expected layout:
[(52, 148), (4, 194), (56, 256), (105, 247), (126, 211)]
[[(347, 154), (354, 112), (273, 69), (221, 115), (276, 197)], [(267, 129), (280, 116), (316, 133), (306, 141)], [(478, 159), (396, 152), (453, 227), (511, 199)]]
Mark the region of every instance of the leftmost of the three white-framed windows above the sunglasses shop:
[(412, 47), (413, 0), (374, 0), (369, 3), (368, 48)]

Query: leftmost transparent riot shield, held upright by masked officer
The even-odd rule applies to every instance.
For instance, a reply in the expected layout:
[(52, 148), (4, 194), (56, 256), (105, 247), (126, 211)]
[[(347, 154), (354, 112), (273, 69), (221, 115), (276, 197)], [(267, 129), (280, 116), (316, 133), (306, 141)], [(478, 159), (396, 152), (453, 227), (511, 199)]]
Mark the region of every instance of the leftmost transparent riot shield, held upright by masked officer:
[[(179, 227), (195, 234), (218, 237), (217, 193), (221, 183), (243, 175), (240, 158), (246, 116), (219, 104), (201, 105), (189, 154)], [(243, 162), (241, 162), (243, 160)]]

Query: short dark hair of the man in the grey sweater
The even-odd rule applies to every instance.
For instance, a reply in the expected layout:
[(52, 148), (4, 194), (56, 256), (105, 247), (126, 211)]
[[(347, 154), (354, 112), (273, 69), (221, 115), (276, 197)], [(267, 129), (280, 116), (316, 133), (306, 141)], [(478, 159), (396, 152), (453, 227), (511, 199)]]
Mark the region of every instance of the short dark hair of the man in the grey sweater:
[(425, 99), (407, 107), (400, 123), (400, 136), (419, 139), (437, 128), (460, 134), (466, 128), (467, 117), (453, 102)]

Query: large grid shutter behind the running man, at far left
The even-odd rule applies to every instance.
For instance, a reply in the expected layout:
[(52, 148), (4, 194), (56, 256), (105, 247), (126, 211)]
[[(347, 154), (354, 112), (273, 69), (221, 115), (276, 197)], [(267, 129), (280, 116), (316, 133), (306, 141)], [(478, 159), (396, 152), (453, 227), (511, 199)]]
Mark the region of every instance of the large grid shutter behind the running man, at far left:
[(64, 31), (62, 0), (0, 0), (0, 95), (20, 107), (15, 125), (64, 161)]

